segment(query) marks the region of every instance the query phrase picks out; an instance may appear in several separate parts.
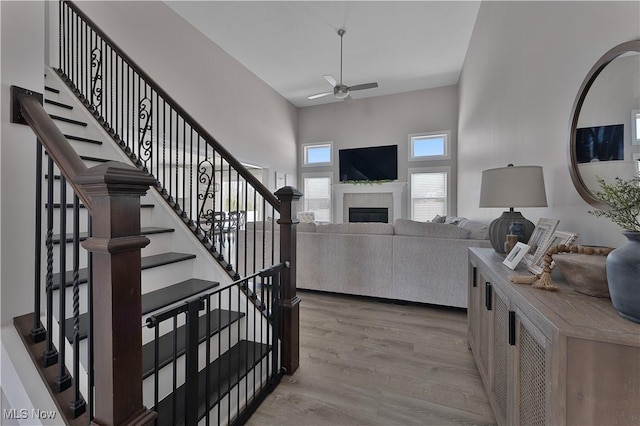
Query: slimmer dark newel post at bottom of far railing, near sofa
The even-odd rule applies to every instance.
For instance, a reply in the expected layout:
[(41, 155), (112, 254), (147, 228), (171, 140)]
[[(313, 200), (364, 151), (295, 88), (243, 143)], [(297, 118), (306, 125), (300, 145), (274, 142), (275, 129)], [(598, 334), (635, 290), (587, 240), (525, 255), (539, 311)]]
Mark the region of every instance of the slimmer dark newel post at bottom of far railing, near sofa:
[(291, 267), (282, 271), (282, 366), (293, 374), (300, 365), (300, 299), (296, 295), (297, 204), (302, 192), (291, 186), (274, 194), (280, 200), (280, 261)]

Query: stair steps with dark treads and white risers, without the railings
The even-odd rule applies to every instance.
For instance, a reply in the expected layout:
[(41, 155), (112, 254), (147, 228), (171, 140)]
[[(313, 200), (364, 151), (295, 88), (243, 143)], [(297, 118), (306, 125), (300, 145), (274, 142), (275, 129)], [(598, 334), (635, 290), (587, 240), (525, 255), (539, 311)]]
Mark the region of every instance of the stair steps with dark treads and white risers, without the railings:
[[(98, 126), (92, 117), (83, 110), (80, 104), (69, 92), (64, 83), (55, 74), (53, 70), (47, 70), (46, 87), (45, 87), (44, 105), (49, 116), (54, 120), (57, 127), (63, 131), (66, 139), (73, 145), (76, 152), (80, 154), (80, 158), (85, 162), (87, 167), (95, 164), (106, 163), (108, 161), (123, 161), (126, 155), (123, 155), (120, 148), (114, 146), (109, 138), (105, 137), (103, 130)], [(46, 154), (45, 154), (46, 155)], [(44, 175), (45, 185), (53, 179), (54, 183), (54, 202), (52, 203), (54, 223), (59, 223), (60, 216), (73, 216), (71, 212), (74, 208), (73, 191), (62, 190), (59, 188), (61, 176), (54, 172), (53, 175)], [(66, 194), (61, 194), (64, 191)], [(62, 199), (61, 197), (64, 197)], [(48, 204), (45, 204), (45, 209)], [(62, 212), (62, 210), (67, 210)], [(78, 210), (84, 210), (83, 205), (78, 206)], [(88, 238), (88, 215), (80, 214), (76, 221), (80, 225), (77, 236), (78, 241), (85, 241)], [(83, 219), (80, 219), (83, 218)], [(80, 222), (82, 222), (80, 224)], [(176, 379), (176, 371), (184, 364), (181, 358), (184, 358), (187, 352), (188, 328), (184, 321), (174, 322), (173, 328), (158, 331), (157, 335), (149, 330), (153, 326), (158, 325), (157, 315), (164, 317), (170, 316), (176, 318), (179, 308), (184, 306), (186, 300), (204, 300), (211, 297), (212, 290), (220, 286), (220, 281), (224, 285), (229, 285), (231, 279), (226, 269), (221, 268), (218, 262), (203, 249), (202, 244), (192, 235), (185, 237), (184, 223), (176, 217), (174, 211), (167, 206), (162, 195), (156, 192), (148, 194), (141, 202), (141, 234), (147, 236), (151, 243), (142, 250), (141, 270), (142, 270), (142, 318), (140, 324), (146, 324), (147, 327), (143, 331), (142, 346), (142, 364), (143, 364), (143, 389), (145, 405), (151, 407), (158, 413), (157, 424), (184, 424), (185, 409), (185, 392), (186, 386), (184, 378)], [(66, 223), (65, 223), (66, 225)], [(176, 226), (177, 225), (177, 226)], [(66, 227), (66, 226), (65, 226)], [(176, 232), (178, 228), (178, 233)], [(183, 235), (179, 235), (182, 231)], [(176, 238), (178, 237), (178, 238)], [(182, 237), (182, 238), (180, 238)], [(185, 244), (187, 240), (187, 244)], [(191, 241), (189, 241), (191, 240)], [(61, 257), (67, 257), (66, 254), (73, 251), (74, 235), (73, 233), (53, 234), (53, 259), (54, 265), (61, 262)], [(186, 247), (185, 247), (186, 246)], [(175, 249), (179, 251), (173, 251)], [(173, 250), (172, 250), (173, 249)], [(78, 268), (76, 272), (70, 261), (65, 261), (69, 269), (64, 272), (52, 274), (52, 292), (53, 292), (53, 317), (55, 320), (53, 329), (54, 334), (60, 333), (61, 308), (60, 300), (63, 299), (64, 308), (62, 308), (65, 317), (64, 334), (69, 347), (71, 349), (75, 339), (81, 347), (80, 370), (87, 371), (89, 361), (87, 359), (88, 345), (86, 339), (89, 335), (90, 319), (88, 312), (88, 255), (85, 250), (80, 250), (78, 262), (85, 267)], [(46, 257), (46, 255), (45, 255)], [(198, 259), (200, 257), (200, 259)], [(205, 275), (213, 275), (217, 280), (204, 279), (198, 276), (198, 271), (207, 271)], [(213, 272), (212, 272), (213, 271)], [(202, 275), (202, 274), (200, 274)], [(78, 301), (80, 303), (80, 314), (77, 318), (69, 313), (74, 311), (74, 284), (79, 293)], [(244, 292), (251, 293), (246, 288)], [(255, 288), (255, 287), (254, 287)], [(62, 294), (64, 293), (64, 294)], [(202, 359), (209, 359), (208, 369), (202, 369), (198, 372), (198, 400), (197, 400), (197, 420), (206, 416), (211, 416), (211, 409), (217, 407), (216, 421), (217, 423), (227, 423), (230, 416), (237, 416), (239, 409), (234, 407), (238, 404), (240, 398), (240, 383), (242, 383), (242, 392), (245, 394), (246, 400), (249, 395), (255, 396), (255, 389), (252, 384), (265, 386), (265, 378), (254, 378), (253, 383), (246, 379), (247, 375), (256, 366), (264, 368), (266, 376), (268, 368), (262, 365), (262, 361), (267, 359), (268, 362), (273, 361), (271, 348), (267, 344), (247, 340), (245, 337), (249, 330), (247, 321), (247, 312), (249, 304), (251, 306), (259, 306), (264, 310), (264, 305), (256, 305), (258, 297), (257, 292), (253, 292), (253, 297), (249, 298), (251, 302), (245, 303), (246, 309), (224, 309), (225, 301), (218, 300), (213, 303), (212, 308), (207, 309), (206, 313), (198, 316), (198, 344), (206, 343), (200, 346), (209, 346), (208, 355), (201, 356)], [(240, 292), (233, 296), (240, 297)], [(245, 299), (247, 296), (242, 295)], [(220, 299), (220, 297), (218, 297)], [(232, 303), (227, 303), (231, 305)], [(238, 303), (240, 305), (241, 303)], [(209, 303), (211, 305), (211, 303)], [(168, 315), (170, 311), (175, 311), (173, 315)], [(161, 312), (162, 311), (162, 312)], [(201, 311), (201, 309), (198, 309)], [(252, 321), (256, 321), (256, 315), (252, 317)], [(264, 320), (264, 318), (263, 318)], [(78, 322), (79, 327), (74, 328), (74, 322)], [(19, 323), (20, 321), (18, 321)], [(44, 318), (43, 318), (44, 322)], [(181, 324), (181, 325), (178, 325)], [(267, 324), (263, 325), (265, 329)], [(166, 327), (165, 327), (166, 328)], [(226, 332), (226, 334), (225, 334)], [(77, 335), (76, 335), (77, 333)], [(261, 332), (264, 333), (264, 330)], [(250, 333), (248, 333), (250, 334)], [(96, 337), (98, 338), (98, 337)], [(53, 338), (56, 341), (57, 338)], [(213, 342), (213, 343), (212, 343)], [(211, 360), (211, 348), (213, 348), (214, 359)], [(206, 350), (199, 350), (202, 355)], [(69, 364), (69, 362), (67, 362)], [(50, 367), (52, 368), (52, 367)], [(69, 365), (68, 369), (72, 367)], [(171, 371), (172, 370), (172, 371)], [(173, 383), (169, 386), (167, 382), (171, 381), (173, 374)], [(254, 374), (255, 376), (255, 374)], [(244, 379), (243, 379), (244, 378)], [(88, 393), (83, 386), (82, 394)], [(205, 392), (205, 388), (210, 389)], [(232, 403), (232, 390), (236, 388), (236, 401)], [(155, 390), (155, 392), (154, 392)], [(223, 399), (226, 398), (226, 407)], [(81, 420), (81, 419), (80, 419)], [(82, 420), (80, 421), (82, 423)]]

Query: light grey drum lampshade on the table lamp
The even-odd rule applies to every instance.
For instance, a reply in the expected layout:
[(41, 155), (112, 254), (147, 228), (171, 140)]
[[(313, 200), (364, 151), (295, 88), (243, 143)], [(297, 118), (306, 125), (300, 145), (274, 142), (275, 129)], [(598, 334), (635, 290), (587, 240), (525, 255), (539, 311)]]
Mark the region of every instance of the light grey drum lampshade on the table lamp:
[(482, 172), (480, 207), (547, 207), (540, 166), (508, 166)]

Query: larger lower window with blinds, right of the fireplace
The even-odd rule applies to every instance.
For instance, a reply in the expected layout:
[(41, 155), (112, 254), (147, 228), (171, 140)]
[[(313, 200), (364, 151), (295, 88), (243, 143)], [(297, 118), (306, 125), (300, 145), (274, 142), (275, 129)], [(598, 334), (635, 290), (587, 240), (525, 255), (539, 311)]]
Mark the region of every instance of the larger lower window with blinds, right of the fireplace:
[(411, 219), (427, 222), (449, 213), (449, 167), (409, 169)]

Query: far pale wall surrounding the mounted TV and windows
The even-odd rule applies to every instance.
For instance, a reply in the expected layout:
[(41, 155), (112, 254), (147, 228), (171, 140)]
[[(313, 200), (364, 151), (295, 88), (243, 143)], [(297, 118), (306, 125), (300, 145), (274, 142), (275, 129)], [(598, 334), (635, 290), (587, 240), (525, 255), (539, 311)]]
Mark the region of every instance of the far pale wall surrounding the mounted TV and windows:
[[(333, 142), (333, 167), (301, 167), (299, 173), (333, 171), (339, 181), (338, 150), (368, 146), (398, 145), (398, 181), (407, 182), (407, 168), (442, 165), (443, 162), (408, 161), (408, 135), (421, 132), (451, 131), (451, 155), (456, 156), (458, 126), (458, 89), (447, 86), (396, 95), (338, 102), (298, 111), (300, 144)], [(302, 152), (300, 152), (300, 156)], [(302, 164), (301, 157), (298, 158)], [(448, 163), (446, 163), (448, 164)], [(455, 161), (452, 164), (455, 179)], [(301, 182), (299, 180), (299, 182)], [(455, 181), (452, 182), (455, 188)], [(302, 185), (302, 183), (300, 183)], [(406, 188), (402, 217), (407, 217)], [(455, 194), (453, 194), (455, 200)], [(455, 214), (455, 202), (452, 204)]]

